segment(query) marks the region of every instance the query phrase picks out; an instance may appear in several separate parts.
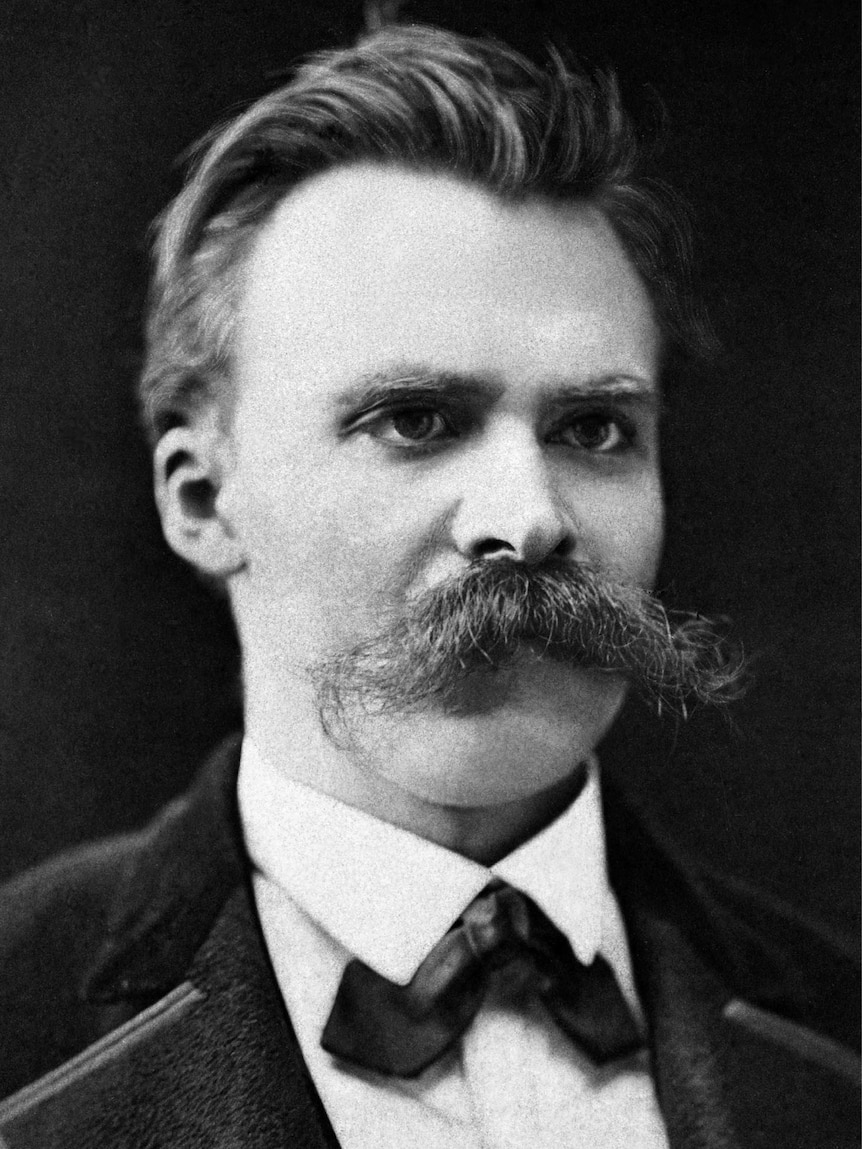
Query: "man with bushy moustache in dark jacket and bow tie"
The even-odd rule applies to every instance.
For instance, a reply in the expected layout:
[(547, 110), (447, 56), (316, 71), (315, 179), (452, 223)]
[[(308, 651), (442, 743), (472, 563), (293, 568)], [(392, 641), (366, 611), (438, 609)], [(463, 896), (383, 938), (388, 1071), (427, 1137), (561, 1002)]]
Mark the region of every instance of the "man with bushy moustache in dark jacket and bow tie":
[(303, 68), (160, 226), (141, 393), (245, 733), (2, 899), (21, 1146), (854, 1143), (840, 947), (599, 792), (651, 594), (686, 231), (613, 80), (429, 29)]

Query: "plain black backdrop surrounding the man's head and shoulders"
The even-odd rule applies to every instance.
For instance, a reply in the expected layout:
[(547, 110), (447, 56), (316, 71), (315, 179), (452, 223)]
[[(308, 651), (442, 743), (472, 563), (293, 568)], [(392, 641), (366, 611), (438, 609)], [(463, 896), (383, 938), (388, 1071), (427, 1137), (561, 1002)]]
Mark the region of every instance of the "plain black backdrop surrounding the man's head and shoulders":
[[(417, 2), (614, 60), (662, 93), (726, 348), (667, 432), (674, 602), (725, 612), (732, 724), (605, 748), (683, 845), (857, 923), (856, 105), (851, 5)], [(134, 824), (237, 722), (222, 608), (162, 543), (131, 399), (175, 157), (355, 2), (6, 0), (0, 10), (0, 873)]]

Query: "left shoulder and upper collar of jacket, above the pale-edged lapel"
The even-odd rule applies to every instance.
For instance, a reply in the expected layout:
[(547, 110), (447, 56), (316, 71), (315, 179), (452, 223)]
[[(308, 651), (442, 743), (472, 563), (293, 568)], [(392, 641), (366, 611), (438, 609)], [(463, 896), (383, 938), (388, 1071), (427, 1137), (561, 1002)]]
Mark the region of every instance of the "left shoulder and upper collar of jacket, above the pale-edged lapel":
[(0, 1097), (176, 986), (243, 880), (239, 738), (143, 830), (0, 888)]

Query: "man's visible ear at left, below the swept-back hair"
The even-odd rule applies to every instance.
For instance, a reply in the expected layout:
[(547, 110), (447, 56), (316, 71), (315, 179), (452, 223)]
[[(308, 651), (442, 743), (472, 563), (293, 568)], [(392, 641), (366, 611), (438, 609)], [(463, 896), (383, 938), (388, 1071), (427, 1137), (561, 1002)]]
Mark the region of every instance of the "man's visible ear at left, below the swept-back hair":
[(217, 412), (209, 410), (190, 425), (171, 427), (156, 444), (153, 470), (169, 546), (201, 573), (225, 579), (245, 566), (245, 557), (222, 506), (232, 449), (217, 424)]

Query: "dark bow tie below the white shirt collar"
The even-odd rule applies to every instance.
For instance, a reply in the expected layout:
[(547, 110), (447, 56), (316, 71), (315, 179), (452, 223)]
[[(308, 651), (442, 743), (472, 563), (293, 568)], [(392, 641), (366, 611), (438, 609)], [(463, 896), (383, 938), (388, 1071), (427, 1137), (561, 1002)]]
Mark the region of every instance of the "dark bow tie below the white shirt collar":
[(409, 985), (349, 962), (321, 1044), (363, 1069), (416, 1077), (457, 1041), (476, 1017), (491, 974), (503, 969), (532, 989), (594, 1062), (622, 1057), (642, 1043), (608, 963), (597, 956), (583, 965), (534, 902), (494, 881)]

